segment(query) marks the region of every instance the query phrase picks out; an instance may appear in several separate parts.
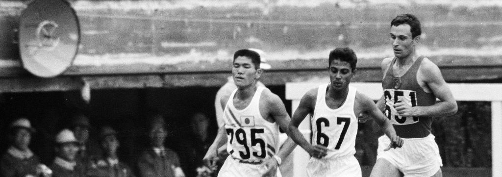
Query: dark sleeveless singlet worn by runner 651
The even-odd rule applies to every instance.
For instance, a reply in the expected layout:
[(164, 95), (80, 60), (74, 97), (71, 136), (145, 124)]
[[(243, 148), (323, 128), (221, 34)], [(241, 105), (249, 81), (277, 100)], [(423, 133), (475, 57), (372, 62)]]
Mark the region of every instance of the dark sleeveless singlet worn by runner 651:
[(417, 71), (425, 57), (418, 57), (417, 61), (401, 77), (395, 77), (392, 67), (396, 58), (391, 62), (387, 74), (382, 81), (385, 98), (385, 115), (402, 138), (422, 138), (431, 133), (432, 117), (402, 117), (394, 109), (394, 104), (405, 102), (411, 106), (430, 106), (436, 103), (436, 96), (426, 93), (417, 81)]

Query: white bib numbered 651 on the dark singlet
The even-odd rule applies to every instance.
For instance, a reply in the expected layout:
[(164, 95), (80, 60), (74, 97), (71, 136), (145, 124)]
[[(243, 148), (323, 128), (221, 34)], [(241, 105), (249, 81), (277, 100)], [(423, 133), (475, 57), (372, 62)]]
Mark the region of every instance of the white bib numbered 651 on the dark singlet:
[(403, 102), (412, 107), (417, 106), (417, 94), (412, 90), (395, 90), (395, 89), (385, 89), (384, 90), (385, 97), (385, 115), (389, 120), (391, 120), (392, 124), (397, 125), (408, 125), (417, 123), (419, 121), (418, 117), (405, 117), (399, 116), (396, 109), (394, 108), (394, 104)]

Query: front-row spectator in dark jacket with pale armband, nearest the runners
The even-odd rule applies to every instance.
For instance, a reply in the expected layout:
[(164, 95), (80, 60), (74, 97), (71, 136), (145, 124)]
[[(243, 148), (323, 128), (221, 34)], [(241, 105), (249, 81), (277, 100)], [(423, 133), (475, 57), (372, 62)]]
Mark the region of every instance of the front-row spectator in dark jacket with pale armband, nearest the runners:
[(178, 155), (164, 146), (167, 130), (164, 117), (154, 116), (149, 122), (150, 147), (141, 152), (138, 170), (141, 177), (182, 177)]

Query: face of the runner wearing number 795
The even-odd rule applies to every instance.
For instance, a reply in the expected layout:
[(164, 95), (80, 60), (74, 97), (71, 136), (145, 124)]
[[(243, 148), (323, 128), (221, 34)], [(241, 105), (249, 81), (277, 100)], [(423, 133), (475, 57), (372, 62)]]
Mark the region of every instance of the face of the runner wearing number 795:
[(255, 84), (261, 76), (262, 69), (255, 69), (255, 64), (248, 57), (239, 56), (233, 61), (232, 76), (237, 87)]

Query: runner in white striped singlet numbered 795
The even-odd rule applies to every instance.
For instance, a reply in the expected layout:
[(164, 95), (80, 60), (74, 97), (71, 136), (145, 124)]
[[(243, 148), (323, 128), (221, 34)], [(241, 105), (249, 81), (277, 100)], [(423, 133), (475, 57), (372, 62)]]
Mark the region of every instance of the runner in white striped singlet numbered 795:
[(260, 55), (242, 49), (233, 57), (232, 76), (237, 89), (221, 98), (224, 127), (209, 147), (204, 161), (213, 166), (217, 148), (227, 143), (230, 154), (218, 176), (277, 176), (281, 164), (296, 144), (288, 138), (279, 149), (279, 126), (288, 132), (290, 117), (276, 94), (256, 82), (263, 70)]

